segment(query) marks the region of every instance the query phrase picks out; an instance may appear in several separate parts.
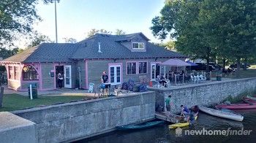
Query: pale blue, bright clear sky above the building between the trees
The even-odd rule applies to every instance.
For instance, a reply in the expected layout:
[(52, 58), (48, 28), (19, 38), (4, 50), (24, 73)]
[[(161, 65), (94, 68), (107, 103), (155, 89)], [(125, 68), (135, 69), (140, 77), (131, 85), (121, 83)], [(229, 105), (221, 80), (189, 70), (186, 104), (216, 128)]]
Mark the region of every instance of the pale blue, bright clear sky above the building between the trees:
[[(165, 0), (61, 0), (57, 3), (58, 42), (64, 37), (85, 39), (90, 29), (126, 34), (143, 32), (152, 42), (160, 42), (151, 34), (151, 20), (159, 15)], [(54, 3), (37, 4), (42, 22), (34, 29), (55, 41)], [(22, 45), (20, 42), (19, 45)]]

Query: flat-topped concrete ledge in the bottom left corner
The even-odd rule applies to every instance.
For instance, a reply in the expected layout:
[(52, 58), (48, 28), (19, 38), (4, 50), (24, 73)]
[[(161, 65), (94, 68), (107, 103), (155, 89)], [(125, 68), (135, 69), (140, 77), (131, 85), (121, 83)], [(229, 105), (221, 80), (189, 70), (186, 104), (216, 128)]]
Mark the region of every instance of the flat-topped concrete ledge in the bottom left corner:
[(0, 142), (37, 142), (35, 123), (10, 112), (0, 112)]

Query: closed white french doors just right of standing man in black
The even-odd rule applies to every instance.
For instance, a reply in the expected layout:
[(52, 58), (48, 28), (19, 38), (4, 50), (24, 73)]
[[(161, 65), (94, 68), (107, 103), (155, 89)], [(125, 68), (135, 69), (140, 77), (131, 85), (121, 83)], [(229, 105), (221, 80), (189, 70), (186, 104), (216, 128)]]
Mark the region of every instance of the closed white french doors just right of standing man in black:
[(121, 65), (109, 66), (109, 82), (111, 85), (121, 84)]

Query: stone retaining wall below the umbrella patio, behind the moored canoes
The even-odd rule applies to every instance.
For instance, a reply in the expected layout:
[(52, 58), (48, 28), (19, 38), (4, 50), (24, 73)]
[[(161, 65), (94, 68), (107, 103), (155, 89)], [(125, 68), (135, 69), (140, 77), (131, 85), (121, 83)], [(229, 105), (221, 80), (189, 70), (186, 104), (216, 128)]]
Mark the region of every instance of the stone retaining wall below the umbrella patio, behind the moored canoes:
[(256, 78), (205, 82), (181, 87), (171, 86), (167, 89), (150, 88), (149, 90), (156, 92), (157, 105), (162, 107), (165, 106), (165, 98), (171, 95), (171, 101), (174, 103), (171, 111), (177, 113), (180, 111), (181, 104), (187, 105), (187, 107), (209, 106), (222, 102), (228, 96), (235, 97), (245, 91), (256, 90)]

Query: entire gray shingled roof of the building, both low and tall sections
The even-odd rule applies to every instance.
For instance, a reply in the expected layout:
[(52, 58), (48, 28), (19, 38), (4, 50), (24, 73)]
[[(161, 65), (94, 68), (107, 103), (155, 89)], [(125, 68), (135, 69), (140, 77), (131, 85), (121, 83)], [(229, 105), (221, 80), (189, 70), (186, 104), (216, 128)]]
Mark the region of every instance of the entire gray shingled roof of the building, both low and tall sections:
[[(135, 36), (143, 36), (142, 33), (127, 35), (95, 34), (76, 44), (70, 43), (43, 43), (37, 47), (6, 58), (3, 61), (15, 61), (22, 63), (32, 62), (69, 62), (72, 59), (88, 58), (177, 58), (186, 57), (181, 53), (165, 50), (164, 47), (146, 42), (146, 52), (132, 52), (122, 41), (130, 40)], [(98, 53), (98, 42), (100, 42), (102, 53)]]

